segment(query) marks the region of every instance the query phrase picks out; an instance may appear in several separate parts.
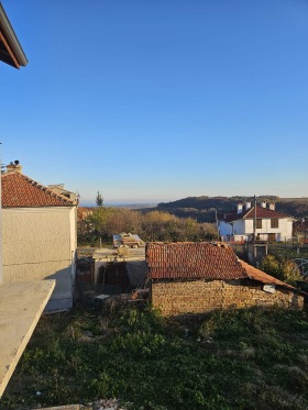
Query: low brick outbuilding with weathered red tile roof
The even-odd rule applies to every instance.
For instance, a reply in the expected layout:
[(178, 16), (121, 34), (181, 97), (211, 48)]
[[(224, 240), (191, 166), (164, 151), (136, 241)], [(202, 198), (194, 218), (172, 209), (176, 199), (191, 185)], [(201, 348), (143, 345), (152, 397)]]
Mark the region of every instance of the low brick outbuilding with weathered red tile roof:
[(152, 242), (145, 261), (152, 304), (164, 315), (305, 306), (305, 293), (239, 259), (223, 243)]

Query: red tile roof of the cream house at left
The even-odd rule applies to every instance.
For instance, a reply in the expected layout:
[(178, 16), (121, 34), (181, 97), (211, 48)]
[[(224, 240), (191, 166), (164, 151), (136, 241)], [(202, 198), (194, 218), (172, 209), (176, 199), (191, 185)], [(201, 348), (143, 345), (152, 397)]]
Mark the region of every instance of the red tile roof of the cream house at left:
[(68, 198), (18, 173), (2, 174), (2, 207), (74, 207)]

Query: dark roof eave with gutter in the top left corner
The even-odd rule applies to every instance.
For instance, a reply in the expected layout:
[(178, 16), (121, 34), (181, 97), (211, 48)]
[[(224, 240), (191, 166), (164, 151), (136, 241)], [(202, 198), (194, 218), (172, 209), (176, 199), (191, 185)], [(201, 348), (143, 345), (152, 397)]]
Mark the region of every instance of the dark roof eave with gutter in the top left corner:
[(3, 37), (6, 38), (6, 42), (8, 46), (10, 47), (10, 49), (12, 51), (18, 62), (18, 65), (23, 66), (23, 67), (26, 66), (28, 58), (22, 49), (22, 46), (18, 40), (18, 36), (1, 3), (0, 3), (0, 33), (2, 33)]

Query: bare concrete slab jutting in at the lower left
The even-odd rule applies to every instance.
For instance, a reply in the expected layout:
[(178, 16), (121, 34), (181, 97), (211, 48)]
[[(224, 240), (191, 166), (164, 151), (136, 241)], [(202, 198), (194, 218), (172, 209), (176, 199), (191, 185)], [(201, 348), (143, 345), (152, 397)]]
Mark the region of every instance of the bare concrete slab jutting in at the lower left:
[(55, 280), (0, 285), (0, 397), (54, 290)]

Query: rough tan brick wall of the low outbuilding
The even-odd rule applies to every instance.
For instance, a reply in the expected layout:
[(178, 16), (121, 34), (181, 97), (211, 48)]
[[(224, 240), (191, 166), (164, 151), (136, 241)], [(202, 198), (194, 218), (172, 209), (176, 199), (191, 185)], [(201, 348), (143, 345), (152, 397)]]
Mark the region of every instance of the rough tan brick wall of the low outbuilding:
[(240, 280), (195, 280), (153, 282), (152, 303), (164, 315), (205, 313), (215, 309), (250, 308), (253, 306), (280, 306), (288, 309), (304, 309), (304, 297), (284, 289), (274, 293), (265, 292), (262, 284), (250, 286)]

